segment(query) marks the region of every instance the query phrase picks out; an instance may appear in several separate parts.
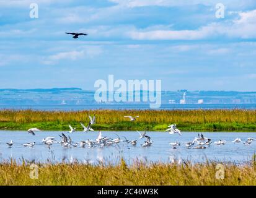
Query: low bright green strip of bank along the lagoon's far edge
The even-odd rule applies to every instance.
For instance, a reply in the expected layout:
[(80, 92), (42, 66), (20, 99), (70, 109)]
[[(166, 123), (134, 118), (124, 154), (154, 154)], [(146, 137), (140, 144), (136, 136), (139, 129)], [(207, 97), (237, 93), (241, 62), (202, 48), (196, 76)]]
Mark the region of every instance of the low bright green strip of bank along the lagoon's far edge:
[[(80, 124), (75, 123), (0, 123), (0, 130), (20, 130), (37, 127), (42, 131), (70, 131), (68, 124), (76, 127), (77, 132), (82, 132)], [(138, 123), (131, 126), (130, 123), (121, 124), (94, 124), (94, 131), (158, 131), (166, 132), (167, 124), (147, 124)], [(239, 123), (207, 123), (207, 124), (177, 124), (181, 131), (208, 131), (208, 132), (256, 132), (256, 124), (239, 124)]]

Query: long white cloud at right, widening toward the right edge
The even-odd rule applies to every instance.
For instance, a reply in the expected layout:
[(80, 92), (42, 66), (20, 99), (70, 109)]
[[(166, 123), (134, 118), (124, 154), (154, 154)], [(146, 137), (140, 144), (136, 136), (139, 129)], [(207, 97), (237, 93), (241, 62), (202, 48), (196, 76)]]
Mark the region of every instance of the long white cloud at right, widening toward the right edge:
[(256, 10), (239, 12), (239, 19), (212, 23), (197, 30), (131, 30), (133, 40), (201, 40), (213, 37), (256, 38)]

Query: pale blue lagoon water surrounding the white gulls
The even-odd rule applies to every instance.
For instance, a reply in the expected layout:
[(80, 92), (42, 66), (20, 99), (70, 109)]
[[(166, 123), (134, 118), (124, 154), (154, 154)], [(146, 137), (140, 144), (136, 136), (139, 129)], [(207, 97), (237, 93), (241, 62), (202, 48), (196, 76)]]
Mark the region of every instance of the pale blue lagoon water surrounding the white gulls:
[[(117, 138), (118, 134), (121, 139), (125, 136), (127, 139), (138, 139), (139, 135), (135, 131), (102, 131), (103, 136)], [(118, 145), (111, 147), (72, 147), (63, 148), (60, 144), (51, 145), (50, 149), (42, 144), (42, 139), (47, 136), (54, 136), (56, 140), (60, 141), (58, 136), (61, 132), (58, 131), (43, 131), (37, 132), (35, 136), (28, 134), (25, 131), (0, 131), (0, 161), (10, 160), (14, 158), (19, 161), (22, 158), (25, 160), (35, 160), (46, 162), (50, 160), (53, 163), (65, 161), (67, 163), (78, 160), (82, 163), (99, 163), (105, 161), (108, 163), (118, 163), (123, 157), (128, 163), (133, 163), (136, 160), (143, 161), (161, 161), (164, 163), (172, 160), (191, 160), (194, 162), (203, 162), (206, 160), (218, 160), (234, 163), (243, 163), (251, 160), (252, 155), (256, 153), (256, 141), (251, 145), (244, 145), (242, 142), (234, 144), (231, 141), (237, 137), (244, 142), (248, 137), (256, 139), (256, 132), (203, 132), (205, 137), (213, 141), (226, 140), (225, 145), (214, 145), (206, 149), (186, 149), (185, 145), (181, 145), (178, 149), (172, 149), (169, 142), (178, 140), (180, 143), (192, 141), (198, 132), (182, 132), (182, 136), (177, 134), (170, 135), (167, 132), (147, 132), (151, 137), (153, 144), (151, 147), (143, 148), (144, 140), (139, 139), (136, 146), (127, 145), (126, 142), (120, 142)], [(98, 132), (75, 132), (69, 134), (64, 132), (73, 139), (74, 142), (81, 140), (92, 139), (95, 140)], [(6, 142), (14, 141), (12, 148), (9, 148)], [(35, 142), (34, 147), (24, 147), (22, 144), (27, 142)]]

